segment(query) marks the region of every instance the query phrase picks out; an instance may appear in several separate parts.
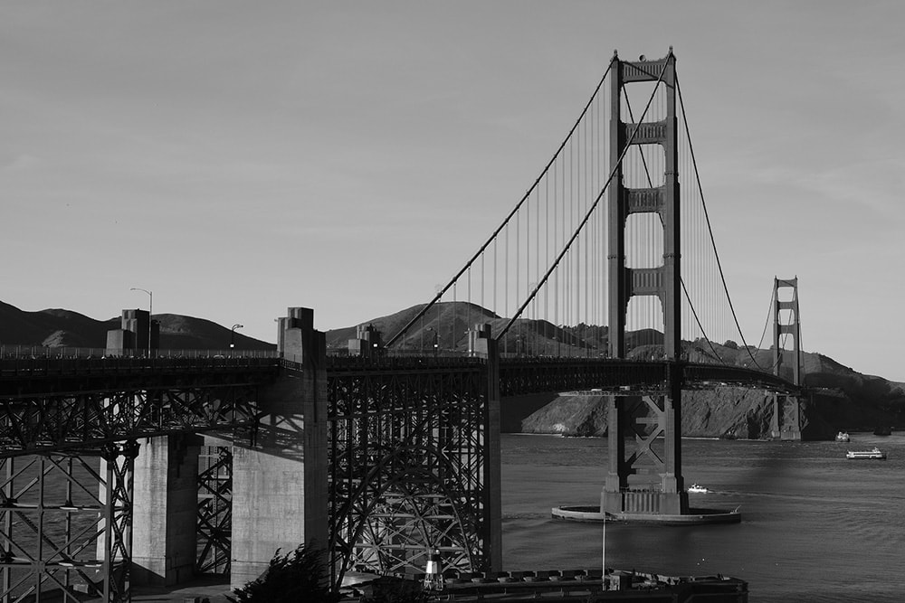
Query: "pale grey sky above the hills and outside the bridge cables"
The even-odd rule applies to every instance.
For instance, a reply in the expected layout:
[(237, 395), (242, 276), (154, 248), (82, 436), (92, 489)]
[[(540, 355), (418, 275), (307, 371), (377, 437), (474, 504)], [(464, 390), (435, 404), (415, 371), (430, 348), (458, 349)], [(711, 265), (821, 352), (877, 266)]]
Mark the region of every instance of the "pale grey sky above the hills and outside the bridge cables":
[(321, 330), (433, 297), (537, 178), (614, 50), (677, 57), (750, 343), (905, 382), (905, 4), (0, 5), (0, 300)]

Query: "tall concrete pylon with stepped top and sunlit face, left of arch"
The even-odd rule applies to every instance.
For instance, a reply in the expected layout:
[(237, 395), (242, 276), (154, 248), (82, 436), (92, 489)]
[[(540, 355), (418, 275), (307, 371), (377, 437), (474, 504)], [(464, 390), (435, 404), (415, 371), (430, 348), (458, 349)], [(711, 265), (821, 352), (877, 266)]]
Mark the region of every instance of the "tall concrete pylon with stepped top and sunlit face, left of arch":
[(262, 391), (255, 441), (233, 446), (233, 588), (260, 577), (278, 549), (329, 546), (326, 340), (309, 308), (290, 308), (279, 328), (287, 365)]

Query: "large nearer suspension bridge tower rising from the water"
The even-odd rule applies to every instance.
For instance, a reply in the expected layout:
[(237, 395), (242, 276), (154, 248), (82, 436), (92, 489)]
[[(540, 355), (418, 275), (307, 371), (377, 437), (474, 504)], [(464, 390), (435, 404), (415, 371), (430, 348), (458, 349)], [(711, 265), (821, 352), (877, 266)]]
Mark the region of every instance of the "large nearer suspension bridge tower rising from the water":
[[(665, 360), (678, 361), (681, 352), (681, 257), (678, 174), (678, 127), (676, 120), (675, 56), (672, 48), (656, 61), (620, 61), (611, 64), (610, 156), (614, 177), (608, 192), (609, 263), (609, 355), (626, 357), (625, 325), (629, 300), (633, 296), (656, 296), (663, 313)], [(661, 121), (625, 123), (621, 101), (626, 84), (662, 82), (666, 94), (666, 115)], [(662, 148), (662, 185), (649, 188), (624, 186), (627, 164), (621, 160), (633, 145)], [(655, 213), (663, 227), (662, 264), (654, 268), (626, 265), (626, 221), (633, 213)], [(688, 494), (681, 476), (681, 371), (669, 371), (662, 391), (643, 396), (651, 419), (649, 428), (633, 421), (637, 398), (609, 396), (609, 471), (601, 495), (605, 513), (682, 514), (688, 512)], [(640, 421), (638, 421), (640, 422)], [(636, 434), (638, 450), (625, 456), (625, 437)], [(661, 455), (653, 448), (663, 436)], [(650, 465), (653, 464), (653, 469)], [(629, 476), (653, 474), (646, 485), (629, 483)], [(659, 477), (659, 483), (655, 480)]]

